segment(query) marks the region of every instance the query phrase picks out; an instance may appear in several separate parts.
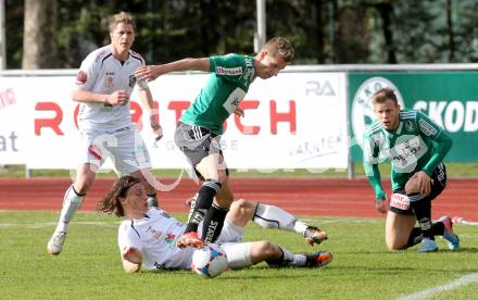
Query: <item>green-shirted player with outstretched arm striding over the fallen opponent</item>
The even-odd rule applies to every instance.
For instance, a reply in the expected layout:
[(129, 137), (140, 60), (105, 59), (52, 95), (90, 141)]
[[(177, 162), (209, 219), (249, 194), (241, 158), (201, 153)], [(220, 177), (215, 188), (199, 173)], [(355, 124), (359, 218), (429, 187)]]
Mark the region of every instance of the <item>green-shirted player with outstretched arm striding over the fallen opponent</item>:
[[(138, 78), (150, 80), (172, 71), (200, 70), (211, 73), (206, 86), (176, 127), (177, 147), (203, 180), (192, 202), (185, 234), (177, 240), (178, 247), (202, 247), (203, 241), (214, 242), (217, 239), (234, 200), (219, 146), (223, 123), (232, 113), (243, 115), (239, 103), (255, 77), (267, 79), (276, 76), (293, 58), (294, 49), (289, 40), (275, 37), (254, 57), (228, 54), (184, 59), (163, 65), (147, 65), (136, 72)], [(197, 232), (201, 221), (202, 236), (199, 238)], [(326, 237), (318, 228), (314, 228), (312, 236), (315, 242)]]

